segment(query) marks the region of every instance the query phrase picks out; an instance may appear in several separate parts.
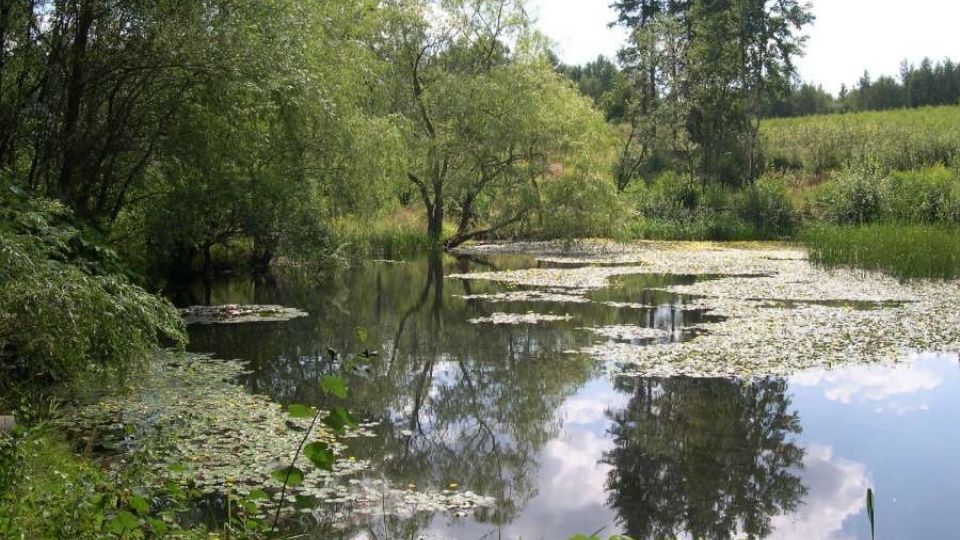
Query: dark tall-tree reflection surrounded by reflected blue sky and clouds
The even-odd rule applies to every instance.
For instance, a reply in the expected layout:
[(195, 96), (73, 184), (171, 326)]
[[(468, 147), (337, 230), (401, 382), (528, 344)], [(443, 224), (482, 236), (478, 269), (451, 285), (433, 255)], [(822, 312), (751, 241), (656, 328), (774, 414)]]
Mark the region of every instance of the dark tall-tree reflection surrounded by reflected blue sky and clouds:
[(608, 413), (609, 503), (633, 538), (762, 538), (806, 488), (782, 379), (626, 379)]

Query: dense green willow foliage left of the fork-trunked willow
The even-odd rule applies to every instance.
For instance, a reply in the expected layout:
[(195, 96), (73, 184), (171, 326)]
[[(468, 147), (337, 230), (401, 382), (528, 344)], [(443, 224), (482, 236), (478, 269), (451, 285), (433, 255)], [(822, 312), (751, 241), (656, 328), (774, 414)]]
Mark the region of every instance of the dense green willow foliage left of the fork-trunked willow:
[(265, 270), (279, 252), (319, 253), (337, 215), (393, 196), (400, 144), (368, 47), (375, 7), (264, 0), (210, 12), (202, 56), (223, 61), (181, 93), (128, 216), (152, 256), (210, 270), (212, 250), (245, 246), (243, 262)]

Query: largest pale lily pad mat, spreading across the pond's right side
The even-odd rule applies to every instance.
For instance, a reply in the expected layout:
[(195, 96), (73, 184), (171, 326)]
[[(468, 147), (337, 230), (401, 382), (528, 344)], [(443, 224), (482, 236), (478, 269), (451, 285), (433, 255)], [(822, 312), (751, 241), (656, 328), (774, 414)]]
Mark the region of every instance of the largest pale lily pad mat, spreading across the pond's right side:
[[(573, 251), (549, 243), (484, 244), (465, 251), (518, 250), (553, 262), (626, 266), (533, 268), (451, 277), (572, 289), (604, 288), (611, 278), (626, 274), (704, 278), (659, 288), (694, 299), (679, 308), (718, 316), (698, 325), (693, 339), (609, 342), (580, 351), (609, 361), (619, 375), (789, 375), (846, 363), (897, 362), (913, 352), (960, 351), (960, 281), (903, 284), (877, 273), (828, 271), (811, 265), (802, 250), (762, 243), (581, 242)], [(592, 331), (630, 339), (623, 328)]]

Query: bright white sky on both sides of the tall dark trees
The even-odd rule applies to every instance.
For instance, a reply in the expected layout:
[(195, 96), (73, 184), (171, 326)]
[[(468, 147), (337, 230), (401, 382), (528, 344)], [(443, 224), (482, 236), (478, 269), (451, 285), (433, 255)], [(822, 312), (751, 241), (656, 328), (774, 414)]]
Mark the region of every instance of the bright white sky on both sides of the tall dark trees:
[[(583, 64), (613, 57), (626, 39), (610, 0), (530, 0), (540, 29), (557, 43), (560, 58)], [(864, 69), (876, 79), (896, 75), (904, 59), (924, 56), (960, 61), (960, 0), (814, 0), (817, 17), (807, 34), (806, 56), (798, 62), (805, 82), (836, 93), (856, 84)]]

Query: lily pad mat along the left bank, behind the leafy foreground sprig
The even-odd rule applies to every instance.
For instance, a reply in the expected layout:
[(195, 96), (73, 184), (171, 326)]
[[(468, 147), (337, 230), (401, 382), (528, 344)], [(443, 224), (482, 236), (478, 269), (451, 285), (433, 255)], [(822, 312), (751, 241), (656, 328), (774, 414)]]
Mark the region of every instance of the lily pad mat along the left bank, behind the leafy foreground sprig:
[[(132, 452), (147, 452), (148, 476), (156, 487), (172, 480), (209, 496), (225, 494), (228, 484), (241, 496), (263, 490), (271, 495), (260, 505), (266, 513), (275, 510), (282, 487), (272, 473), (291, 464), (310, 419), (293, 418), (279, 404), (234, 384), (245, 369), (238, 361), (163, 354), (129, 392), (78, 409), (64, 428), (103, 456), (108, 468), (122, 467)], [(305, 472), (303, 483), (288, 486), (287, 500), (296, 505), (284, 510), (348, 526), (371, 514), (456, 514), (493, 504), (470, 492), (415, 493), (371, 479), (375, 471), (349, 455), (346, 443), (376, 437), (376, 426), (362, 423), (343, 435), (322, 424), (314, 427), (309, 439), (329, 445), (333, 468), (314, 467), (301, 455), (296, 466)]]

